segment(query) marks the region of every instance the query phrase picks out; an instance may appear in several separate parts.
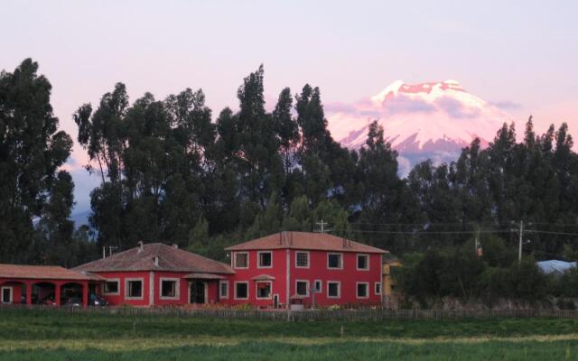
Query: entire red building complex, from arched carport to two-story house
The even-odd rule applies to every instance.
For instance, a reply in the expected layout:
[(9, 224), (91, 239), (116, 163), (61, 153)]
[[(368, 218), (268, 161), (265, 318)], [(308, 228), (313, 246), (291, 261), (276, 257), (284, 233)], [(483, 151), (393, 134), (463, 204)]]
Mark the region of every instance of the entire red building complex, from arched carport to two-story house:
[(111, 305), (143, 307), (222, 303), (288, 308), (382, 301), (381, 264), (387, 251), (376, 247), (328, 234), (281, 232), (226, 250), (230, 264), (176, 245), (142, 242), (71, 270), (0, 264), (0, 301), (48, 299), (60, 305), (62, 292), (72, 286), (84, 305), (92, 293)]

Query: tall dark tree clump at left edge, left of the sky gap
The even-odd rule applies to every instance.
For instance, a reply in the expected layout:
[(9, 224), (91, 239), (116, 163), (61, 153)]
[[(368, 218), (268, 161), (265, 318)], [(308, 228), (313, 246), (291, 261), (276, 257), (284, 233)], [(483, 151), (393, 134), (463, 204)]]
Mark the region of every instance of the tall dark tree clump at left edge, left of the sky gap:
[(26, 59), (0, 73), (0, 263), (75, 265), (74, 185), (59, 171), (72, 140), (59, 131), (51, 83), (37, 71)]

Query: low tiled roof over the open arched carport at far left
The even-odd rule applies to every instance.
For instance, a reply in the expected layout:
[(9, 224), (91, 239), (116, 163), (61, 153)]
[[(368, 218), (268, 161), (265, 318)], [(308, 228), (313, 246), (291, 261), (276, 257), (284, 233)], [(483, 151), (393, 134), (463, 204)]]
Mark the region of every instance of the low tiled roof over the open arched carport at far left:
[(58, 265), (27, 264), (0, 264), (0, 278), (70, 281), (98, 281), (101, 279), (94, 274), (75, 272)]

